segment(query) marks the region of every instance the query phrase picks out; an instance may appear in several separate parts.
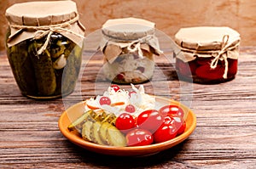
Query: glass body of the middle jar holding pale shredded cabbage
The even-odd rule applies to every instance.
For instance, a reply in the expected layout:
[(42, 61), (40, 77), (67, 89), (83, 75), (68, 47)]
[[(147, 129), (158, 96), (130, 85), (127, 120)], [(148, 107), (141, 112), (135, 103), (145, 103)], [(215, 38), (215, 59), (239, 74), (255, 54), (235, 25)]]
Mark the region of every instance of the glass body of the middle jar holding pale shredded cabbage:
[(108, 80), (119, 84), (148, 82), (154, 74), (154, 54), (143, 52), (143, 57), (137, 52), (120, 54), (113, 62), (104, 59), (104, 75)]

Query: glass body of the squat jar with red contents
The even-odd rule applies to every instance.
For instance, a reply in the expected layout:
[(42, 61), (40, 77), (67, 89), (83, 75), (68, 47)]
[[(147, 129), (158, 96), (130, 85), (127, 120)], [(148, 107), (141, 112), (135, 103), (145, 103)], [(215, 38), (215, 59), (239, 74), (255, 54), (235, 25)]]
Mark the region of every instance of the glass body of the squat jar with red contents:
[[(216, 68), (211, 68), (212, 59), (195, 58), (185, 62), (176, 59), (176, 70), (179, 78), (197, 83), (219, 83), (227, 82), (235, 78), (237, 73), (237, 59), (227, 58), (227, 68), (224, 60), (218, 60)], [(224, 78), (224, 71), (227, 69), (227, 78)]]

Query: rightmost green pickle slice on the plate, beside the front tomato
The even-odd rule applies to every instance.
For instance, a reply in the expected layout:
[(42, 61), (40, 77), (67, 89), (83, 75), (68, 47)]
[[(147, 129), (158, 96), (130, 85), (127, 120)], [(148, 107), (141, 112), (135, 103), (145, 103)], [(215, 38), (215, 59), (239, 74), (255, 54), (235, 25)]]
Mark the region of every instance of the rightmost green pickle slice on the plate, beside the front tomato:
[(119, 131), (116, 127), (108, 127), (107, 130), (107, 139), (109, 141), (109, 145), (116, 147), (125, 147), (126, 139), (122, 132)]

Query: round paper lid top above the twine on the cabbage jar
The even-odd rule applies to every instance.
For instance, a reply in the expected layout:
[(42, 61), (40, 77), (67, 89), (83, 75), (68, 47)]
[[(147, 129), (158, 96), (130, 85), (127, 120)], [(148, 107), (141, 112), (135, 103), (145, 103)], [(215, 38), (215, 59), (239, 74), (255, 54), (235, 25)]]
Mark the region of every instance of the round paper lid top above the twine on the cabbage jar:
[(137, 18), (107, 20), (102, 25), (103, 35), (119, 40), (132, 41), (154, 35), (154, 23)]

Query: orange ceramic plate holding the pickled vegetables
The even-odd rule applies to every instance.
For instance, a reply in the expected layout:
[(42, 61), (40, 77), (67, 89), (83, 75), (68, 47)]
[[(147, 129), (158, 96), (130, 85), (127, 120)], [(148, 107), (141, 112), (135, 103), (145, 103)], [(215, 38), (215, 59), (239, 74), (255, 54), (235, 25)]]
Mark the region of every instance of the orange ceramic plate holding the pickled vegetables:
[(90, 143), (82, 139), (79, 136), (79, 133), (69, 132), (67, 130), (67, 126), (71, 123), (71, 121), (74, 121), (84, 113), (84, 102), (79, 102), (78, 104), (74, 104), (73, 106), (71, 106), (70, 108), (68, 108), (66, 111), (63, 112), (63, 114), (59, 119), (59, 128), (61, 133), (67, 139), (73, 142), (73, 144), (77, 144), (84, 149), (88, 149), (96, 153), (105, 154), (105, 155), (123, 155), (123, 156), (153, 155), (162, 150), (170, 149), (173, 146), (183, 142), (183, 140), (188, 138), (189, 135), (195, 130), (195, 126), (196, 126), (195, 114), (191, 110), (189, 110), (189, 108), (186, 107), (185, 105), (180, 104), (177, 101), (164, 99), (160, 97), (156, 97), (156, 101), (162, 105), (177, 104), (184, 110), (185, 114), (187, 115), (187, 118), (186, 118), (187, 127), (185, 129), (185, 132), (183, 132), (183, 134), (160, 144), (150, 144), (150, 145), (135, 146), (135, 147), (114, 147), (114, 146)]

